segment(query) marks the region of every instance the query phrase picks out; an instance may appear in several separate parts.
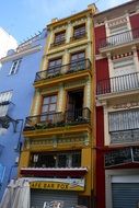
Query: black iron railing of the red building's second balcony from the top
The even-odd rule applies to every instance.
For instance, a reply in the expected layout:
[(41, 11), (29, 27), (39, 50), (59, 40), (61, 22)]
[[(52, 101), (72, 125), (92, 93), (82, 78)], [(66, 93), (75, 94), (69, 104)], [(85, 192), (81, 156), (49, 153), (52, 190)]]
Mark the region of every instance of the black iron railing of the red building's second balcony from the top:
[(114, 77), (97, 82), (96, 94), (116, 93), (139, 88), (139, 72)]

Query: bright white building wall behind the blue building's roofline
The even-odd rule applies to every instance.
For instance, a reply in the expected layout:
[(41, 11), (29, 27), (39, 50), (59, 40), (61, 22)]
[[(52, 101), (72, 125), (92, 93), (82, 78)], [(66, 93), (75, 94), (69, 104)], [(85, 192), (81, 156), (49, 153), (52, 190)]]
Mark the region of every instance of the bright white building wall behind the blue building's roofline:
[(0, 27), (0, 58), (7, 56), (8, 50), (18, 47), (16, 39)]

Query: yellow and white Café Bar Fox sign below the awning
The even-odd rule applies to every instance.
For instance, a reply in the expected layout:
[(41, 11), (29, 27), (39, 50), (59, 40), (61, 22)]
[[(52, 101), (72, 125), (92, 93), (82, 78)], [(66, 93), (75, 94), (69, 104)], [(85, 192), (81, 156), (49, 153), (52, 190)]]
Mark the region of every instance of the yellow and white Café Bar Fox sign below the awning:
[(30, 186), (37, 189), (84, 190), (84, 178), (47, 178), (30, 182)]

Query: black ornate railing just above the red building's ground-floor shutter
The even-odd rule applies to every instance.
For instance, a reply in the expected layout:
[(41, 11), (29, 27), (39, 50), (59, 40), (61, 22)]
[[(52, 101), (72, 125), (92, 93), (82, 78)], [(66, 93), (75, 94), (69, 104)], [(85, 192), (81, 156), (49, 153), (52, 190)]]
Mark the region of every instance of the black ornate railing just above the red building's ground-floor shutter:
[(139, 163), (139, 148), (125, 148), (105, 153), (105, 167), (127, 163)]

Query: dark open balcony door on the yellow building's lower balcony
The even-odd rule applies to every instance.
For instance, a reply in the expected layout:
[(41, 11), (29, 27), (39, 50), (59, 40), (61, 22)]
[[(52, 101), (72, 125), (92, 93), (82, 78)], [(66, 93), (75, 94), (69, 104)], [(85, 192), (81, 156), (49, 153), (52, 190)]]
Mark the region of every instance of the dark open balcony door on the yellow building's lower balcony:
[(83, 90), (68, 92), (67, 120), (76, 122), (82, 117)]

